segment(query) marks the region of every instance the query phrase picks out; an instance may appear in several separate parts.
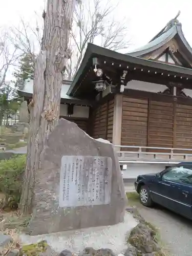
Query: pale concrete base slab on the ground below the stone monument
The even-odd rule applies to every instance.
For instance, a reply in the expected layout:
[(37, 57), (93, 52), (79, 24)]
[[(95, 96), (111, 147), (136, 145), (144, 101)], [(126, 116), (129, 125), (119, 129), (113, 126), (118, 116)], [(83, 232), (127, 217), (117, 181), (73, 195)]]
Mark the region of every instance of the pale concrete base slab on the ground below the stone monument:
[(21, 234), (22, 244), (37, 243), (46, 240), (56, 251), (68, 249), (79, 253), (86, 247), (94, 249), (109, 248), (117, 254), (126, 250), (126, 240), (131, 230), (138, 224), (133, 216), (126, 212), (124, 221), (113, 226), (91, 227), (80, 230), (70, 230), (39, 236)]

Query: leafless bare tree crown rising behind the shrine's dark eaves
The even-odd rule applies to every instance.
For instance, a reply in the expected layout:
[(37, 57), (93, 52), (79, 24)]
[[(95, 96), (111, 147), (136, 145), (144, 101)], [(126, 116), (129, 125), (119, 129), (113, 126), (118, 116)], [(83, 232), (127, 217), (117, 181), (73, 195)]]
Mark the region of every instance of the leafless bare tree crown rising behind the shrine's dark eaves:
[(126, 26), (113, 19), (115, 9), (110, 1), (103, 5), (103, 0), (84, 0), (76, 7), (71, 32), (74, 50), (66, 69), (69, 78), (77, 72), (89, 42), (115, 51), (129, 47)]

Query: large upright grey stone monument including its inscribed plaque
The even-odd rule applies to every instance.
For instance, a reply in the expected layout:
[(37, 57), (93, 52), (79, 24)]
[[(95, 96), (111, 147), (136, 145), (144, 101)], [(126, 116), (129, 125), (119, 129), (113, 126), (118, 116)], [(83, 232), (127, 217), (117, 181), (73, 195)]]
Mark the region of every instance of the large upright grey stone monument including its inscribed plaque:
[(41, 154), (34, 194), (28, 226), (33, 236), (124, 219), (126, 197), (114, 146), (65, 119), (59, 120)]

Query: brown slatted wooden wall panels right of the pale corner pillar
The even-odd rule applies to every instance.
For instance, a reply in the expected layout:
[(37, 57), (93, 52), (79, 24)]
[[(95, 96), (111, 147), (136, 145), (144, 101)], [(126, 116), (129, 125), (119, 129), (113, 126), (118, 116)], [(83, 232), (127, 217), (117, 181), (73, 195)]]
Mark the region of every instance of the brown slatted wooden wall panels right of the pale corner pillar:
[(121, 145), (192, 148), (192, 106), (123, 95)]

